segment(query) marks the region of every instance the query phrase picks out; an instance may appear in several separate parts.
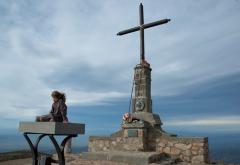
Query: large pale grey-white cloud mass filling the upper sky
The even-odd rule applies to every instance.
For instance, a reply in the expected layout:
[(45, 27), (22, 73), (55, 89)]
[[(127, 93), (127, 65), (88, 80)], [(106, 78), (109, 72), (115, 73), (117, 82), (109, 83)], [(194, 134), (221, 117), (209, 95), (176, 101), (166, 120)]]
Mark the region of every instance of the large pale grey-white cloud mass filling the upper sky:
[[(181, 95), (199, 83), (239, 73), (238, 2), (143, 4), (145, 22), (172, 19), (146, 30), (153, 95)], [(54, 89), (66, 92), (70, 105), (128, 97), (139, 61), (139, 34), (116, 33), (138, 24), (138, 5), (0, 2), (0, 119), (30, 119), (48, 112)]]

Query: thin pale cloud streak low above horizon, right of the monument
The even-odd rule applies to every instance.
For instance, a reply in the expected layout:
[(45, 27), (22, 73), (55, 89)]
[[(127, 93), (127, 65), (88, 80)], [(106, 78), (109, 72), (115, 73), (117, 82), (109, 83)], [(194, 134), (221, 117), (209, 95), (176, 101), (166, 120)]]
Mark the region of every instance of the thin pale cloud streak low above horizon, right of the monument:
[[(182, 117), (181, 119), (165, 120), (163, 129), (171, 132), (178, 132), (181, 135), (186, 133), (196, 133), (201, 136), (206, 134), (216, 135), (218, 133), (236, 134), (240, 131), (240, 116), (218, 116), (218, 117), (196, 117), (192, 116), (191, 119), (188, 117)], [(185, 132), (185, 133), (184, 133)]]

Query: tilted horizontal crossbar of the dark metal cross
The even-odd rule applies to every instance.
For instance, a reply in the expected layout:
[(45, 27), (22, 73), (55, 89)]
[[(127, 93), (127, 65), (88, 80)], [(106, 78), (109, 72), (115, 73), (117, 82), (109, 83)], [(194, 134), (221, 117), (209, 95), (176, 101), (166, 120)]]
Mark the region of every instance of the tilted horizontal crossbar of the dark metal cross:
[[(147, 28), (150, 28), (150, 27), (153, 27), (153, 26), (168, 23), (169, 21), (170, 21), (170, 19), (162, 19), (162, 20), (151, 22), (151, 23), (148, 23), (148, 24), (143, 24), (142, 27), (143, 27), (143, 29), (147, 29)], [(136, 31), (139, 31), (139, 30), (140, 30), (140, 26), (136, 26), (134, 28), (130, 28), (130, 29), (127, 29), (127, 30), (120, 31), (120, 32), (117, 33), (117, 35), (121, 36), (121, 35), (124, 35), (124, 34), (136, 32)]]

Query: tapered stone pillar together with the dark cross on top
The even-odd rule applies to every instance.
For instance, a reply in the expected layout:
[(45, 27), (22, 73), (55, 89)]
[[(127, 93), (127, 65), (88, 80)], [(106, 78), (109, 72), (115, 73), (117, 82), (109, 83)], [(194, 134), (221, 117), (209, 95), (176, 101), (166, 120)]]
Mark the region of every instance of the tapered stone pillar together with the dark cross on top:
[[(140, 25), (120, 31), (117, 35), (124, 35), (132, 32), (140, 32), (140, 64), (134, 70), (134, 86), (135, 94), (131, 97), (130, 106), (132, 106), (132, 115), (143, 121), (151, 123), (154, 127), (161, 126), (161, 120), (158, 114), (152, 112), (152, 99), (151, 99), (151, 68), (145, 61), (144, 55), (144, 30), (150, 27), (168, 23), (170, 19), (162, 19), (159, 21), (144, 24), (143, 5), (139, 5), (139, 21)], [(133, 92), (133, 91), (132, 91)], [(130, 108), (129, 108), (130, 112)]]

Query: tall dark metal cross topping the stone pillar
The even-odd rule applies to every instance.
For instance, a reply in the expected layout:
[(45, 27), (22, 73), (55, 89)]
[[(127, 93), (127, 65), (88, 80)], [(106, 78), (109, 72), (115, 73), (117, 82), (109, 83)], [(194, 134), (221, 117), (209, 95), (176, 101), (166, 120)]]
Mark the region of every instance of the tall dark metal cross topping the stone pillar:
[(117, 35), (121, 36), (121, 35), (124, 35), (124, 34), (140, 31), (140, 62), (142, 63), (145, 60), (145, 55), (144, 55), (144, 29), (168, 23), (170, 21), (170, 19), (162, 19), (162, 20), (159, 20), (159, 21), (144, 24), (143, 5), (142, 5), (142, 3), (140, 3), (140, 5), (139, 5), (139, 21), (140, 21), (139, 26), (120, 31), (120, 32), (117, 33)]

